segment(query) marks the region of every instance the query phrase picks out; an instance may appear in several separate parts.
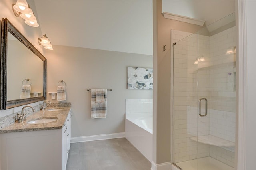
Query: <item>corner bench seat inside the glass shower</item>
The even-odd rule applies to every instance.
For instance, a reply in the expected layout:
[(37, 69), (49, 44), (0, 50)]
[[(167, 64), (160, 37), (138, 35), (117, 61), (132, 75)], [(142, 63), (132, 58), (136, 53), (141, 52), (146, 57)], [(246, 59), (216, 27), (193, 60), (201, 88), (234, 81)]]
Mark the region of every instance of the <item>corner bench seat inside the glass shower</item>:
[(214, 146), (224, 146), (224, 147), (233, 147), (235, 146), (234, 142), (230, 142), (228, 140), (218, 138), (216, 136), (212, 135), (205, 135), (205, 136), (195, 136), (190, 137), (191, 140), (194, 140), (196, 142), (200, 142), (203, 144), (209, 144)]

